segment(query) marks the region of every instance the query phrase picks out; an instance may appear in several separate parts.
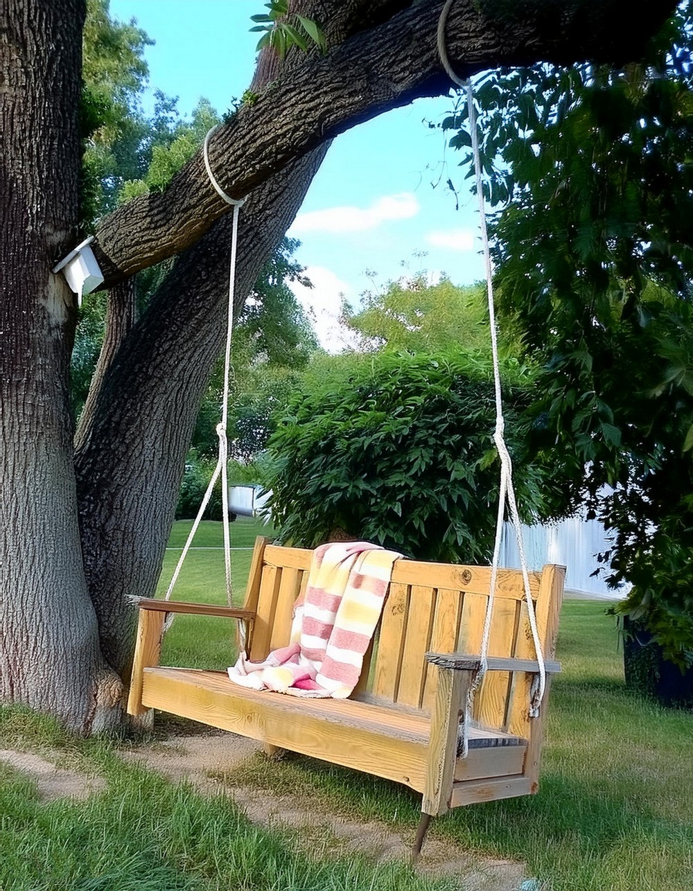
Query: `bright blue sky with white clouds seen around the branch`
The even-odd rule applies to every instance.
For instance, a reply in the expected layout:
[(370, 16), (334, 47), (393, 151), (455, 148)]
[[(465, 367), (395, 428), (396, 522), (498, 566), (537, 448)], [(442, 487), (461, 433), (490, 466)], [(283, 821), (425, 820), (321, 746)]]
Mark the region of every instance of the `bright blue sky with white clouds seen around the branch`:
[[(135, 18), (156, 41), (145, 53), (150, 86), (178, 96), (182, 113), (201, 96), (224, 111), (249, 86), (257, 42), (250, 16), (263, 11), (263, 0), (110, 0), (114, 18)], [(420, 100), (330, 148), (289, 230), (315, 286), (298, 296), (313, 305), (321, 339), (336, 336), (330, 316), (340, 293), (356, 306), (363, 290), (407, 272), (444, 272), (460, 284), (483, 277), (476, 199), (441, 132), (425, 123), (451, 107), (452, 98)], [(460, 186), (459, 210), (449, 176)]]

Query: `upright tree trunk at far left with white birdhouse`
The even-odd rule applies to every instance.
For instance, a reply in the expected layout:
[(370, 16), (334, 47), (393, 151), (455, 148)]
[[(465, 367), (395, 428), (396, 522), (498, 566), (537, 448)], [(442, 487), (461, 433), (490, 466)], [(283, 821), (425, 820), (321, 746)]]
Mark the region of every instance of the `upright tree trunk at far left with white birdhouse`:
[[(86, 730), (114, 697), (77, 526), (68, 399), (75, 295), (51, 273), (76, 233), (85, 9), (83, 0), (5, 0), (3, 15), (0, 698)], [(112, 691), (118, 699), (117, 683)]]

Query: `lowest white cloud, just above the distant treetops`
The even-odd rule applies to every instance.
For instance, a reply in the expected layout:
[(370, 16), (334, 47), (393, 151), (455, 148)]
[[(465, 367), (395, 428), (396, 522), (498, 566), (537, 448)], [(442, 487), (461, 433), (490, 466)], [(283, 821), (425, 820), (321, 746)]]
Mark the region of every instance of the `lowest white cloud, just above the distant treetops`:
[(312, 288), (299, 282), (288, 284), (310, 317), (321, 347), (340, 353), (353, 346), (352, 332), (339, 322), (342, 299), (351, 293), (349, 285), (324, 266), (307, 266), (304, 274), (313, 282)]

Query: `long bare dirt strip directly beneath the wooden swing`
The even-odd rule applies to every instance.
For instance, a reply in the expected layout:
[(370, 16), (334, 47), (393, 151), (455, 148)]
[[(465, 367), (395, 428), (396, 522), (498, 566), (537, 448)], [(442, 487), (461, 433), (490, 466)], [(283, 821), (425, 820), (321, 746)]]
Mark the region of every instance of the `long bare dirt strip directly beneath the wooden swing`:
[[(230, 797), (250, 820), (295, 832), (315, 856), (321, 856), (323, 851), (330, 855), (358, 852), (375, 862), (409, 859), (413, 844), (410, 830), (400, 835), (385, 823), (358, 822), (300, 794), (278, 795), (224, 782), (224, 775), (232, 775), (234, 767), (240, 767), (261, 750), (255, 740), (232, 733), (207, 732), (204, 736), (172, 736), (122, 755), (127, 761), (142, 763), (172, 780), (192, 782), (207, 794)], [(461, 891), (518, 891), (526, 876), (522, 863), (483, 859), (431, 834), (423, 846), (417, 871), (438, 878), (459, 877)]]

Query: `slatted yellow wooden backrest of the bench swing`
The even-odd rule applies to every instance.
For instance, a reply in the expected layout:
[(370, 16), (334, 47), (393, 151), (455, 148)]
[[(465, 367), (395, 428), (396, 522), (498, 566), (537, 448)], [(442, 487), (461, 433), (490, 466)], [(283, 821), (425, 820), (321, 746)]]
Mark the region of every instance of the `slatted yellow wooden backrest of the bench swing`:
[[(249, 658), (262, 660), (289, 642), (291, 614), (306, 589), (313, 552), (258, 538), (244, 609), (256, 614)], [(544, 658), (553, 658), (565, 570), (530, 573)], [(481, 649), (491, 570), (486, 567), (397, 560), (378, 629), (363, 661), (355, 699), (428, 713), (436, 673), (425, 654)], [(524, 585), (519, 570), (501, 569), (493, 603), (489, 657), (534, 659)], [(483, 726), (528, 736), (530, 675), (489, 672), (475, 698)]]

